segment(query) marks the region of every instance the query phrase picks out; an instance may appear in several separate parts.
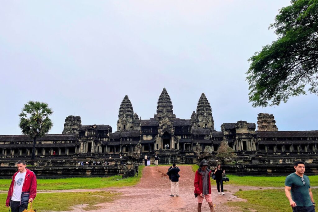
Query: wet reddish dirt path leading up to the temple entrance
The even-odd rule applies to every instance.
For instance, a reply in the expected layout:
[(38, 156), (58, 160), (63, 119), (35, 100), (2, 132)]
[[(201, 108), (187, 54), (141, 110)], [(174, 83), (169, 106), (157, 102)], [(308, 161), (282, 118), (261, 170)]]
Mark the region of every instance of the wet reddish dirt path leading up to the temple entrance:
[[(79, 191), (112, 191), (120, 192), (122, 195), (119, 199), (109, 203), (101, 203), (100, 209), (90, 210), (90, 212), (168, 212), (168, 211), (196, 211), (197, 199), (194, 197), (193, 181), (194, 173), (191, 166), (179, 166), (179, 197), (170, 197), (170, 182), (168, 176), (165, 176), (169, 166), (160, 167), (145, 167), (143, 169), (142, 178), (140, 183), (135, 186), (122, 187), (122, 188), (105, 188), (105, 189), (83, 189)], [(226, 195), (218, 195), (217, 189), (212, 187), (212, 200), (216, 204), (215, 211), (217, 212), (235, 212), (234, 209), (229, 209), (223, 203), (227, 201), (244, 201), (229, 192), (227, 189)], [(235, 189), (236, 190), (236, 189)], [(239, 188), (237, 188), (239, 190)], [(74, 191), (74, 190), (72, 190)], [(56, 192), (56, 191), (52, 191)], [(67, 192), (67, 191), (61, 191)], [(233, 191), (234, 192), (234, 191)], [(79, 208), (74, 209), (72, 212), (82, 211)], [(208, 204), (202, 204), (202, 211), (210, 211)]]

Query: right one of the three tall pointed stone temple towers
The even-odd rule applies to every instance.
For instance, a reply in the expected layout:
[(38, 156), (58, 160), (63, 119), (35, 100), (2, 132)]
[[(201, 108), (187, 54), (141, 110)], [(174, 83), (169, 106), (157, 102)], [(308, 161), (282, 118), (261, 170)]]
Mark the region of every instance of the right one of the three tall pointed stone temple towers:
[(212, 109), (210, 103), (204, 93), (201, 94), (197, 105), (197, 128), (211, 128), (214, 130), (214, 120), (212, 117)]

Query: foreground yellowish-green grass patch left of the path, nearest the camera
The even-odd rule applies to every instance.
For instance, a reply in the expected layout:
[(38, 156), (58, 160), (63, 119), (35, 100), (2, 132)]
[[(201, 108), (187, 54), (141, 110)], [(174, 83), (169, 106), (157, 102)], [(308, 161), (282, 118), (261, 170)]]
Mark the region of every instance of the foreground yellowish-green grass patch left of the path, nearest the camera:
[[(96, 206), (102, 202), (111, 202), (120, 194), (114, 194), (104, 191), (96, 192), (70, 192), (70, 193), (43, 193), (38, 194), (32, 205), (37, 212), (45, 211), (67, 211), (72, 210), (73, 206), (87, 204), (84, 210), (97, 209)], [(0, 194), (0, 211), (8, 211), (5, 207), (6, 194)], [(30, 207), (30, 205), (29, 205)], [(80, 210), (82, 211), (82, 210)]]

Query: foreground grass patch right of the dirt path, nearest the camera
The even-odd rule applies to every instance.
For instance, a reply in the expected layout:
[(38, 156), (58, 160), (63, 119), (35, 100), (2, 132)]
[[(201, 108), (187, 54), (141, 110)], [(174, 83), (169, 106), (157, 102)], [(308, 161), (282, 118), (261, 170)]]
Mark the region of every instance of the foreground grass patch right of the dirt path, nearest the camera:
[[(314, 197), (318, 196), (318, 190), (312, 189)], [(239, 198), (247, 202), (227, 202), (226, 205), (237, 207), (242, 212), (290, 212), (292, 211), (289, 201), (285, 196), (284, 189), (249, 190), (236, 192)]]

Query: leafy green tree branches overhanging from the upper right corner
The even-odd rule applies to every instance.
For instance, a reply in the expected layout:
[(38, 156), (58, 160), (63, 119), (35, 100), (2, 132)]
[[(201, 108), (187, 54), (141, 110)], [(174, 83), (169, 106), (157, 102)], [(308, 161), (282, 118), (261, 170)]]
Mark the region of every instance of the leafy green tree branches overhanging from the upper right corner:
[(246, 74), (254, 107), (279, 105), (290, 96), (318, 94), (318, 0), (292, 0), (280, 9), (275, 23), (278, 39), (256, 52)]

